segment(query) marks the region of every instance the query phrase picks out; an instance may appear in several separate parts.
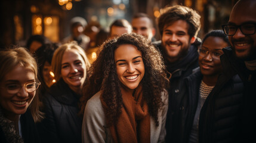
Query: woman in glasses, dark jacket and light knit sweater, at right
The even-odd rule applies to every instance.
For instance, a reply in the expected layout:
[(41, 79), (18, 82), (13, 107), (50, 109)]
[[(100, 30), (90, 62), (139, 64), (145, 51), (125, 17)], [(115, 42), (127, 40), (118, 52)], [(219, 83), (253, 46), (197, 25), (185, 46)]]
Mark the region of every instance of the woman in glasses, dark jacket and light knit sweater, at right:
[(178, 136), (172, 136), (174, 142), (199, 142), (199, 115), (201, 108), (214, 88), (221, 73), (220, 55), (222, 49), (229, 46), (229, 39), (221, 30), (212, 30), (203, 38), (199, 49), (199, 67), (192, 75), (184, 79), (184, 94), (177, 101), (175, 119), (172, 127)]

